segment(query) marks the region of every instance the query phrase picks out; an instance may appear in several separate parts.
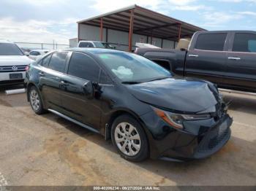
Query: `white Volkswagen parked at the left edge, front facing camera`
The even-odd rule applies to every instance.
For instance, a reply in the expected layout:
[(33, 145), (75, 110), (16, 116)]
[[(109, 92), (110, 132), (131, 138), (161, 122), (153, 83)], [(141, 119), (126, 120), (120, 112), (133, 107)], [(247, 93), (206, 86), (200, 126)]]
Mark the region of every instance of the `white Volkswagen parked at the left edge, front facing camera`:
[(0, 85), (23, 83), (31, 62), (15, 43), (0, 39)]

